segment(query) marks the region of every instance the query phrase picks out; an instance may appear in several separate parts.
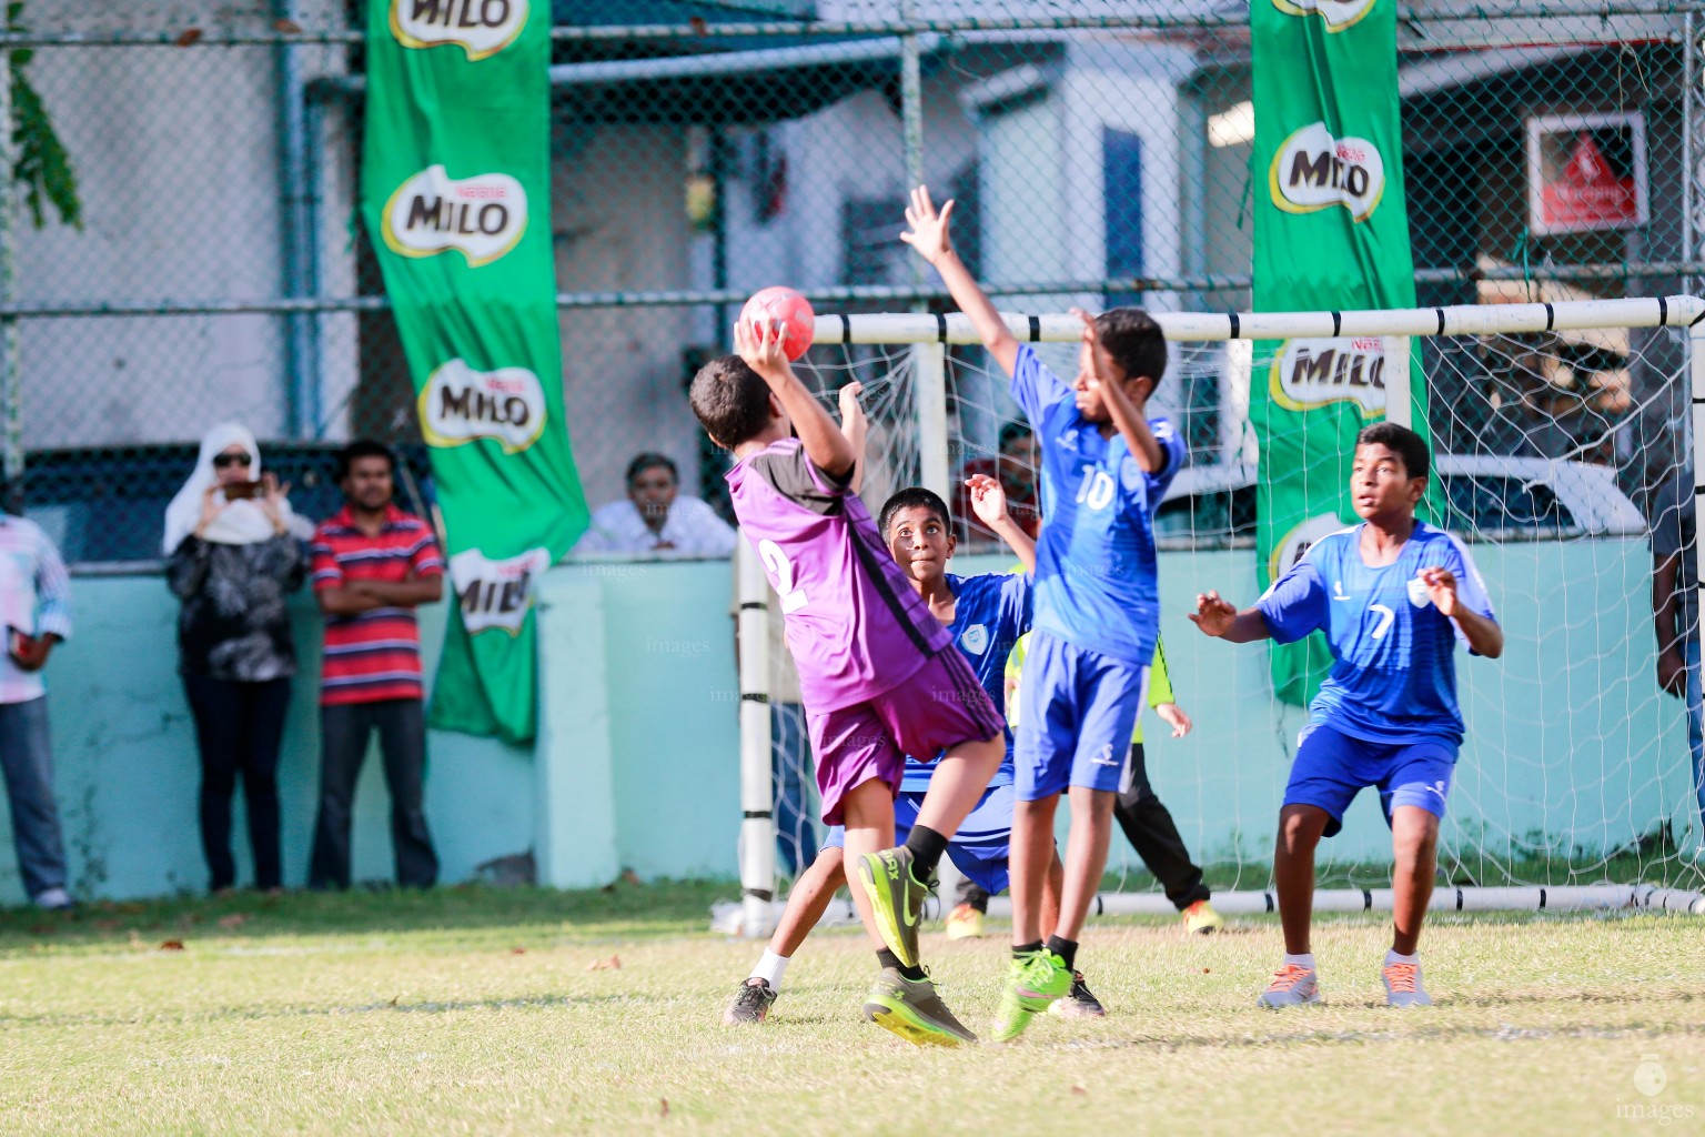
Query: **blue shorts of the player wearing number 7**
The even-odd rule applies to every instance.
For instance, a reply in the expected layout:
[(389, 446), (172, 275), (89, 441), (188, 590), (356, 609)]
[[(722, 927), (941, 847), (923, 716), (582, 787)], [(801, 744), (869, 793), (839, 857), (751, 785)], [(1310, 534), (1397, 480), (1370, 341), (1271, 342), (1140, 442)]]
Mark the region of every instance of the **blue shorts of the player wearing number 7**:
[(1379, 791), (1386, 825), (1400, 805), (1419, 805), (1442, 818), (1454, 774), (1456, 747), (1439, 738), (1381, 743), (1309, 726), (1298, 743), (1284, 803), (1325, 810), (1332, 817), (1325, 835), (1333, 837), (1344, 828), (1344, 811), (1367, 786)]

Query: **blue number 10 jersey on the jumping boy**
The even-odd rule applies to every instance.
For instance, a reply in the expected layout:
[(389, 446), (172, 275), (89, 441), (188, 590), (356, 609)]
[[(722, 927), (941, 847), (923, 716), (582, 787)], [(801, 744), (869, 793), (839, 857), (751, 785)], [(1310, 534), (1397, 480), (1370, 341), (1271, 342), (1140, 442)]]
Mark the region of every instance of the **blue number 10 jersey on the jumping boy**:
[(1159, 634), (1154, 506), (1183, 467), (1183, 440), (1149, 419), (1165, 464), (1146, 472), (1113, 431), (1078, 411), (1069, 384), (1028, 344), (1018, 348), (1013, 399), (1042, 443), (1037, 627), (1074, 648), (1146, 667)]

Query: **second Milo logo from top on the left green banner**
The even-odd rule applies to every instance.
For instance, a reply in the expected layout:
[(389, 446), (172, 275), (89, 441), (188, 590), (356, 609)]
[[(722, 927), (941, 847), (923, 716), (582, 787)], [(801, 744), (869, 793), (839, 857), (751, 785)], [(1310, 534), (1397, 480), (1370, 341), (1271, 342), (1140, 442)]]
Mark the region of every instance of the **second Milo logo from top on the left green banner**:
[(384, 210), (385, 245), (406, 257), (455, 249), (469, 268), (489, 264), (515, 247), (527, 228), (527, 191), (508, 174), (452, 179), (430, 165), (390, 194)]

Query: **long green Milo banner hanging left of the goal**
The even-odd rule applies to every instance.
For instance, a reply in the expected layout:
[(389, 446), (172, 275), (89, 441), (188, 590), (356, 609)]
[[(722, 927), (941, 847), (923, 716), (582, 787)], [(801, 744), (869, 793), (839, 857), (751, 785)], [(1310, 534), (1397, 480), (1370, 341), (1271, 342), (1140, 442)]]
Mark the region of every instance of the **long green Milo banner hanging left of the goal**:
[(532, 740), (534, 593), (587, 527), (563, 423), (546, 0), (368, 0), (361, 216), (448, 530), (443, 730)]

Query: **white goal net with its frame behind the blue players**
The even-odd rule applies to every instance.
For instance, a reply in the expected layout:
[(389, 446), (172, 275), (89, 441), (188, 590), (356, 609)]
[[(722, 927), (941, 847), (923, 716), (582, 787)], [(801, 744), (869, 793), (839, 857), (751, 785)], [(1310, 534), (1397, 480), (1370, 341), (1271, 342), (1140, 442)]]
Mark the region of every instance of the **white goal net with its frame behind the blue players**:
[[(1679, 510), (1693, 501), (1690, 389), (1705, 397), (1705, 380), (1693, 378), (1705, 368), (1705, 339), (1690, 336), (1702, 314), (1705, 303), (1691, 297), (1156, 314), (1170, 361), (1149, 414), (1170, 418), (1188, 443), (1188, 464), (1154, 517), (1161, 639), (1194, 730), (1173, 738), (1146, 709), (1146, 765), (1216, 893), (1270, 890), (1279, 805), (1308, 713), (1275, 697), (1270, 648), (1211, 641), (1185, 615), (1207, 588), (1240, 607), (1260, 592), (1255, 539), (1267, 488), (1251, 399), (1282, 387), (1274, 370), (1294, 372), (1299, 348), (1303, 378), (1337, 384), (1369, 419), (1386, 399), (1427, 407), (1417, 426), (1434, 450), (1429, 506), (1468, 544), (1506, 631), (1500, 660), (1456, 660), (1468, 733), (1441, 832), (1439, 903), (1449, 905), (1451, 886), (1463, 890), (1458, 903), (1466, 890), (1526, 888), (1485, 895), (1529, 907), (1546, 903), (1534, 886), (1550, 890), (1552, 907), (1579, 886), (1621, 886), (1601, 892), (1604, 903), (1630, 902), (1635, 886), (1705, 886), (1705, 772), (1695, 769), (1688, 702), (1664, 685), (1676, 680), (1654, 615), (1654, 547), (1683, 540)], [(1059, 375), (1076, 375), (1076, 317), (1008, 322)], [(1376, 372), (1367, 356), (1378, 348), (1386, 363)], [(863, 384), (871, 419), (863, 498), (873, 515), (912, 484), (960, 510), (967, 472), (999, 476), (1025, 505), (1040, 499), (1023, 414), (965, 317), (824, 315), (800, 372), (829, 406), (842, 385)], [(974, 518), (955, 523), (955, 573), (1014, 571), (1011, 551)], [(1676, 588), (1686, 592), (1698, 580), (1691, 522), (1679, 554), (1688, 564)], [(762, 590), (760, 569), (750, 571)], [(1678, 597), (1676, 614), (1696, 620), (1693, 612), (1696, 603)], [(1685, 651), (1676, 644), (1676, 658)], [(767, 690), (755, 670), (743, 684)], [(771, 817), (803, 817), (793, 834), (800, 846), (822, 837), (810, 755), (798, 738), (760, 730), (760, 707), (743, 719), (748, 895), (776, 876)], [(789, 765), (791, 782), (774, 777)], [(1369, 791), (1344, 832), (1321, 844), (1318, 880), (1347, 890), (1354, 907), (1388, 886), (1390, 864), (1390, 834)], [(1159, 892), (1117, 830), (1107, 890)]]

